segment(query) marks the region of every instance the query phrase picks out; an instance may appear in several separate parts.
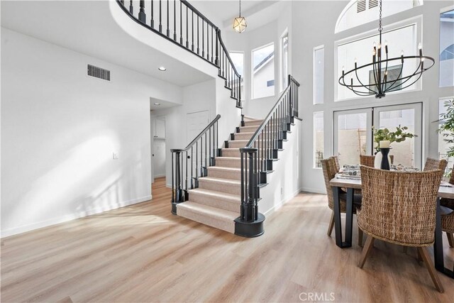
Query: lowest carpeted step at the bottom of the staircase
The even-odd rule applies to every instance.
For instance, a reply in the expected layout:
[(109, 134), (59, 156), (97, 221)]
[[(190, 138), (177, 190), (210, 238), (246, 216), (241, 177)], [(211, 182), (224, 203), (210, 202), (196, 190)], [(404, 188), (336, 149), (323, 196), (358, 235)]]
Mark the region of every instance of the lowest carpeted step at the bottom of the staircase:
[(177, 215), (228, 231), (229, 233), (235, 233), (234, 220), (238, 218), (238, 213), (236, 212), (218, 209), (190, 200), (177, 205)]

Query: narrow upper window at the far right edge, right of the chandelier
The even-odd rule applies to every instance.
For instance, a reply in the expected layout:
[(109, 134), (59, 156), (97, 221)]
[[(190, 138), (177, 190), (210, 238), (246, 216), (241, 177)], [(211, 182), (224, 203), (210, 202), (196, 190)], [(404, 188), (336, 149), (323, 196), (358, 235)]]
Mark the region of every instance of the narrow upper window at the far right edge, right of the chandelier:
[(454, 86), (454, 10), (440, 14), (440, 87)]

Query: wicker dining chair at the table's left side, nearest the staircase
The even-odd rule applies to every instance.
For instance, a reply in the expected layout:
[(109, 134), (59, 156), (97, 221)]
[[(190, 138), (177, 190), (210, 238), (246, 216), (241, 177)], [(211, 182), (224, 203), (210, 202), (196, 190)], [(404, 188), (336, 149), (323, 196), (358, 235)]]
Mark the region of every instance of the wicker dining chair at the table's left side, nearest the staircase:
[[(337, 158), (337, 157), (336, 157)], [(331, 237), (331, 233), (333, 233), (334, 228), (334, 197), (333, 197), (333, 189), (331, 188), (329, 182), (333, 177), (336, 177), (336, 173), (339, 172), (338, 166), (336, 165), (335, 157), (330, 157), (328, 159), (321, 160), (321, 167), (323, 170), (323, 178), (325, 179), (325, 186), (326, 186), (326, 195), (328, 196), (328, 207), (331, 209), (331, 219), (328, 226), (328, 236)], [(355, 205), (360, 204), (361, 196), (359, 194), (355, 194), (354, 196)], [(345, 213), (347, 211), (347, 204), (345, 202), (345, 194), (341, 194), (339, 197), (341, 200), (341, 213)], [(353, 214), (356, 213), (356, 208), (353, 207)], [(362, 231), (358, 228), (358, 245), (362, 246)]]

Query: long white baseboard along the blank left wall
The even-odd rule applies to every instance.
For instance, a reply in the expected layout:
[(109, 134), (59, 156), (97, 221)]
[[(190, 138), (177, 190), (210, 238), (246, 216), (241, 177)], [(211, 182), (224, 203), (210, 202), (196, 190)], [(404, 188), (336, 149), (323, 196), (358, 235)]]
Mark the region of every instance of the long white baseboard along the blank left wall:
[(78, 214), (68, 214), (66, 216), (61, 216), (61, 217), (58, 217), (58, 218), (48, 219), (48, 220), (40, 221), (40, 222), (33, 223), (33, 224), (28, 224), (28, 225), (18, 226), (18, 227), (14, 227), (14, 228), (9, 228), (9, 229), (6, 229), (4, 231), (0, 231), (0, 238), (6, 238), (6, 237), (9, 237), (9, 236), (14, 236), (14, 235), (17, 235), (19, 233), (26, 233), (28, 231), (35, 231), (36, 229), (39, 229), (39, 228), (45, 228), (45, 227), (48, 227), (48, 226), (64, 223), (64, 222), (67, 222), (67, 221), (72, 221), (74, 219), (83, 218), (84, 216), (90, 216), (92, 214), (99, 214), (101, 212), (110, 211), (112, 209), (119, 209), (119, 208), (124, 207), (124, 206), (137, 204), (137, 203), (140, 203), (140, 202), (145, 202), (145, 201), (148, 201), (148, 200), (151, 200), (151, 199), (153, 199), (153, 196), (150, 194), (149, 196), (140, 197), (138, 199), (132, 199), (132, 200), (125, 201), (125, 202), (116, 203), (114, 205), (96, 207), (94, 209), (89, 209), (87, 211), (79, 212)]

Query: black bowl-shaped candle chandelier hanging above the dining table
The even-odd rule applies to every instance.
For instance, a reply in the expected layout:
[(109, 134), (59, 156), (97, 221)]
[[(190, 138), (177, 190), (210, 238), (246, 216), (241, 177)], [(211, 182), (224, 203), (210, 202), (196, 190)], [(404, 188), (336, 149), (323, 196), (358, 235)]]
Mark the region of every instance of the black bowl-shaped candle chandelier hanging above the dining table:
[[(423, 72), (433, 67), (435, 60), (433, 60), (433, 57), (423, 55), (421, 43), (419, 43), (419, 55), (404, 56), (404, 51), (402, 50), (400, 57), (388, 58), (387, 41), (384, 42), (384, 57), (382, 57), (382, 0), (380, 0), (379, 20), (380, 26), (378, 31), (380, 41), (378, 45), (375, 45), (374, 43), (372, 49), (372, 62), (358, 67), (358, 63), (355, 59), (355, 68), (353, 70), (345, 72), (344, 68), (342, 68), (342, 76), (339, 78), (339, 84), (343, 87), (347, 87), (358, 96), (365, 97), (375, 95), (375, 98), (380, 99), (383, 98), (387, 92), (406, 89), (413, 85), (421, 78)], [(404, 75), (404, 62), (411, 60), (416, 60), (416, 62), (414, 62), (416, 68), (411, 74)], [(399, 64), (400, 67), (397, 70), (393, 69), (393, 77), (388, 77), (388, 65), (391, 67), (393, 64)], [(360, 77), (358, 77), (359, 70), (366, 70), (367, 72), (372, 73), (373, 79), (371, 75), (370, 83), (363, 83), (361, 81)], [(355, 80), (353, 80), (353, 77), (355, 77)]]

